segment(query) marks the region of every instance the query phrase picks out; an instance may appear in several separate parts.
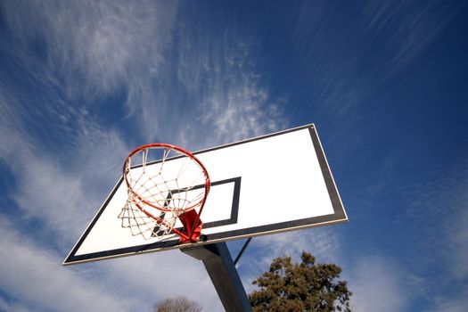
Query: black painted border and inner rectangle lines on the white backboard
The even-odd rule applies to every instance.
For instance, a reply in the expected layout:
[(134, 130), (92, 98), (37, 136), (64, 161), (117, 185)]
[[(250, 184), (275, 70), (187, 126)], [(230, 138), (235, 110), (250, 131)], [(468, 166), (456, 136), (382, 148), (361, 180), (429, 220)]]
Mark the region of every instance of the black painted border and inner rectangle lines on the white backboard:
[[(267, 225), (267, 226), (255, 226), (255, 227), (250, 227), (250, 228), (245, 228), (242, 230), (234, 230), (234, 231), (229, 231), (229, 232), (224, 232), (220, 234), (208, 234), (206, 235), (206, 241), (205, 242), (197, 242), (196, 244), (207, 244), (207, 243), (214, 243), (214, 242), (226, 242), (228, 240), (234, 240), (234, 239), (240, 239), (240, 238), (245, 238), (245, 237), (252, 237), (252, 236), (259, 236), (259, 235), (266, 235), (266, 234), (275, 234), (275, 233), (280, 233), (280, 232), (286, 232), (286, 231), (293, 231), (293, 230), (298, 230), (302, 228), (310, 228), (310, 227), (316, 227), (316, 226), (324, 226), (324, 225), (331, 225), (331, 224), (339, 224), (348, 221), (348, 217), (346, 215), (345, 209), (343, 207), (343, 204), (341, 202), (340, 194), (338, 193), (338, 189), (335, 185), (335, 182), (333, 180), (333, 175), (330, 170), (330, 167), (328, 166), (328, 161), (326, 160), (326, 157), (324, 155), (324, 150), (322, 148), (322, 144), (320, 143), (320, 139), (318, 138), (318, 135), (316, 133), (316, 127), (314, 124), (309, 124), (306, 126), (302, 127), (295, 127), (291, 128), (288, 130), (284, 130), (281, 132), (276, 132), (270, 135), (262, 135), (259, 137), (251, 138), (249, 140), (245, 141), (240, 141), (236, 142), (233, 144), (226, 144), (226, 145), (220, 145), (218, 147), (213, 147), (207, 150), (199, 151), (199, 152), (194, 152), (193, 154), (201, 154), (203, 152), (211, 152), (215, 151), (218, 149), (223, 149), (226, 147), (234, 146), (237, 144), (245, 144), (257, 140), (261, 140), (267, 137), (272, 137), (275, 135), (283, 135), (287, 134), (290, 132), (294, 131), (299, 131), (308, 128), (308, 132), (310, 134), (310, 139), (312, 140), (312, 144), (314, 146), (314, 149), (316, 151), (316, 157), (319, 162), (320, 168), (322, 170), (322, 175), (324, 177), (324, 182), (327, 188), (327, 191), (330, 196), (330, 200), (332, 202), (333, 206), (333, 214), (330, 215), (324, 215), (324, 216), (319, 216), (315, 218), (304, 218), (304, 219), (299, 219), (299, 220), (294, 220), (294, 221), (288, 221), (288, 222), (282, 222), (282, 223), (276, 223), (272, 225)], [(89, 261), (96, 261), (96, 260), (101, 260), (101, 259), (111, 259), (111, 258), (118, 258), (118, 257), (124, 257), (124, 256), (130, 256), (130, 255), (135, 255), (143, 252), (154, 252), (158, 250), (169, 250), (169, 249), (175, 249), (175, 248), (185, 248), (189, 246), (193, 246), (193, 244), (190, 243), (185, 243), (185, 244), (180, 244), (178, 241), (172, 240), (172, 241), (167, 241), (167, 242), (156, 242), (156, 243), (149, 243), (149, 244), (144, 244), (144, 245), (139, 245), (131, 248), (122, 248), (122, 249), (116, 249), (116, 250), (104, 250), (101, 252), (94, 252), (94, 253), (89, 253), (89, 254), (84, 254), (84, 255), (76, 255), (79, 247), (81, 244), (85, 241), (87, 234), (90, 233), (91, 229), (93, 228), (94, 224), (96, 223), (97, 219), (100, 218), (101, 214), (103, 213), (104, 209), (107, 207), (107, 204), (109, 201), (111, 201), (111, 198), (113, 194), (117, 191), (119, 188), (119, 185), (123, 182), (123, 178), (119, 179), (118, 184), (114, 187), (112, 190), (111, 194), (109, 197), (106, 199), (106, 201), (103, 203), (103, 206), (101, 209), (99, 209), (98, 213), (94, 216), (93, 221), (89, 226), (87, 226), (85, 233), (80, 237), (79, 241), (73, 248), (73, 250), (70, 251), (69, 256), (67, 259), (63, 261), (63, 265), (72, 265), (72, 264), (78, 264), (82, 262), (89, 262)], [(233, 179), (228, 179), (228, 180), (223, 180), (218, 183), (228, 183), (228, 182), (234, 182), (234, 197), (233, 197), (233, 212), (232, 216), (230, 219), (227, 220), (222, 220), (222, 221), (217, 221), (221, 222), (222, 224), (217, 224), (217, 225), (209, 225), (207, 224), (206, 226), (221, 226), (221, 225), (226, 225), (226, 224), (231, 224), (235, 223), (235, 220), (237, 219), (237, 210), (238, 210), (238, 204), (239, 204), (239, 196), (241, 192), (241, 177), (234, 177)], [(215, 182), (216, 184), (217, 182)], [(234, 220), (235, 219), (235, 220)], [(224, 222), (224, 223), (223, 223)]]

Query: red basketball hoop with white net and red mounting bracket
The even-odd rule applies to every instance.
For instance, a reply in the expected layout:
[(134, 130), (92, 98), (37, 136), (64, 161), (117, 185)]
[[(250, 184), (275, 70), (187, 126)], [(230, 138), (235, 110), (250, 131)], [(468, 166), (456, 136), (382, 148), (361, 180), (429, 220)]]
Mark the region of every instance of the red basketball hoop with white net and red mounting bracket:
[(170, 144), (140, 146), (128, 154), (123, 177), (127, 202), (119, 214), (122, 227), (146, 240), (168, 234), (179, 235), (180, 242), (200, 240), (210, 182), (191, 152)]

